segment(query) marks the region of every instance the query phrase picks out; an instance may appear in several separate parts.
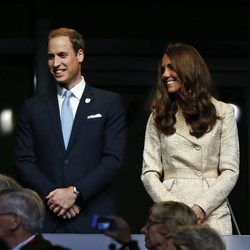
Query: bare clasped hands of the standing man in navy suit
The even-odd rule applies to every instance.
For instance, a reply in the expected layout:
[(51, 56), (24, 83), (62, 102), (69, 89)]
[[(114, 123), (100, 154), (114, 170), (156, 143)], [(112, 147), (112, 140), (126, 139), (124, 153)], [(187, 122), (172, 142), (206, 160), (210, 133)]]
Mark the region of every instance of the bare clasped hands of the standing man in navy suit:
[(73, 186), (57, 188), (46, 196), (50, 210), (63, 219), (74, 218), (80, 213), (81, 208), (75, 204), (76, 198)]

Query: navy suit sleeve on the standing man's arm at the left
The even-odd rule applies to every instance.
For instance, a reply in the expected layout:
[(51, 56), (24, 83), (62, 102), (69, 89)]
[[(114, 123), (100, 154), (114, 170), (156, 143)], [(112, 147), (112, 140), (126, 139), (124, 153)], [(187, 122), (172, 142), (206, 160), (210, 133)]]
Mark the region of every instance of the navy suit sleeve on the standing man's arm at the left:
[[(31, 110), (32, 106), (32, 102), (26, 101), (21, 111), (14, 149), (14, 166), (22, 184), (34, 189), (44, 198), (56, 186), (36, 166), (31, 119), (31, 116), (34, 115), (34, 110)], [(39, 110), (35, 113), (38, 115)]]

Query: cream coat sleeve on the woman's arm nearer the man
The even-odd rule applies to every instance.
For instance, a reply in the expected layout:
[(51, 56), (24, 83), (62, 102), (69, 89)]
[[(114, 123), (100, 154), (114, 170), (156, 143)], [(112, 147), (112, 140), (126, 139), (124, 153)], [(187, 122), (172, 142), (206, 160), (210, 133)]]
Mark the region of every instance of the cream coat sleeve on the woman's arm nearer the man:
[(160, 136), (151, 114), (145, 132), (141, 180), (154, 202), (177, 201), (178, 199), (168, 192), (161, 181), (163, 172)]

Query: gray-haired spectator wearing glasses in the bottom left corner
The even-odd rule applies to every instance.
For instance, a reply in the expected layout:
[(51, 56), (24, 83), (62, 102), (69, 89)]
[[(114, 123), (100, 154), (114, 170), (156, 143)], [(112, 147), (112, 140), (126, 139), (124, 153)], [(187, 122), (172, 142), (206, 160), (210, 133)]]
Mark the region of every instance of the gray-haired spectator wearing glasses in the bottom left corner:
[(10, 188), (1, 190), (0, 240), (8, 247), (3, 249), (67, 250), (43, 238), (40, 231), (44, 214), (43, 201), (33, 190)]

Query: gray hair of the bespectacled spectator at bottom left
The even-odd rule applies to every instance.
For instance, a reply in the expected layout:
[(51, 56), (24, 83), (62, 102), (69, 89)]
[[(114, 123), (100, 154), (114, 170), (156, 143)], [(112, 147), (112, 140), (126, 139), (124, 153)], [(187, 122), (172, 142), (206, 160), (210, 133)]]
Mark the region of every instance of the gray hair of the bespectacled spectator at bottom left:
[(0, 191), (0, 212), (20, 217), (20, 226), (27, 232), (42, 229), (45, 207), (39, 195), (31, 189), (5, 189)]

